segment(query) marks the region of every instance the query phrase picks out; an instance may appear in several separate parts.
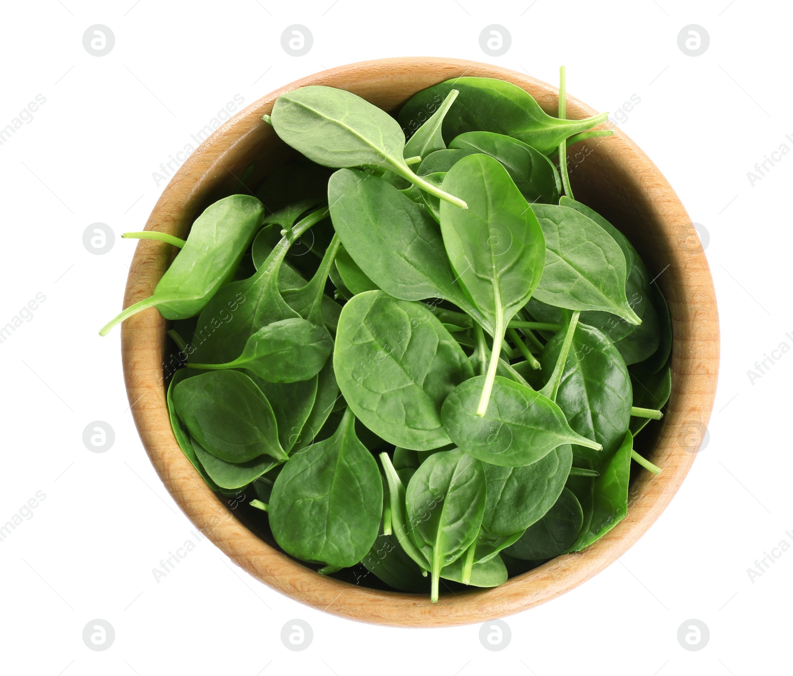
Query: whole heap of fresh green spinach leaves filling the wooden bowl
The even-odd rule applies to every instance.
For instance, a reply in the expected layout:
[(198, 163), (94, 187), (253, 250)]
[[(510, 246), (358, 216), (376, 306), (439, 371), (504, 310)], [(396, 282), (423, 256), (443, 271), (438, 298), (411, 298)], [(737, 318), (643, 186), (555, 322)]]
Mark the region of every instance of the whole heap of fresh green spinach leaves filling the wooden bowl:
[(102, 334), (172, 321), (182, 451), (322, 574), (497, 586), (623, 519), (631, 459), (659, 471), (634, 437), (669, 397), (668, 309), (551, 159), (607, 135), (565, 119), (563, 85), (559, 117), (463, 77), (398, 121), (289, 91), (262, 124), (298, 159), (187, 240), (128, 233), (180, 251)]

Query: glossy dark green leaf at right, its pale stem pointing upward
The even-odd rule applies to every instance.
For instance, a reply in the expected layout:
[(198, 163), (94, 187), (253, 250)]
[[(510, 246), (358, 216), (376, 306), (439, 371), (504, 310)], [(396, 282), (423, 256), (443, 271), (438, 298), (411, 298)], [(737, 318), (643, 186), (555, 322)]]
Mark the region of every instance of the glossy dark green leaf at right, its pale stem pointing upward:
[[(542, 351), (542, 371), (551, 371), (565, 333), (559, 332)], [(573, 447), (573, 453), (597, 462), (609, 458), (625, 439), (633, 394), (630, 374), (619, 352), (592, 326), (578, 324), (573, 334), (556, 403), (570, 427), (602, 448)]]

